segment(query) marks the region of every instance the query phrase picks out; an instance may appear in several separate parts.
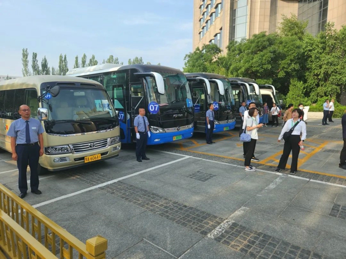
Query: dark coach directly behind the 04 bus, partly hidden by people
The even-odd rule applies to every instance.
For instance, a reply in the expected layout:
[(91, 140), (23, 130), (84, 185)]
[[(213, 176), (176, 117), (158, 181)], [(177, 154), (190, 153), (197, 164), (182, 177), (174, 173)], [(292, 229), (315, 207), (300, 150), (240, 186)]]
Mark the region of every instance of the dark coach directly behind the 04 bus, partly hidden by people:
[(228, 79), (231, 82), (235, 98), (237, 124), (240, 125), (242, 121), (239, 115), (239, 108), (241, 107), (242, 102), (245, 102), (247, 106), (251, 102), (256, 103), (256, 107), (259, 109), (259, 122), (261, 123), (263, 120), (263, 102), (257, 82), (245, 77), (233, 77)]

